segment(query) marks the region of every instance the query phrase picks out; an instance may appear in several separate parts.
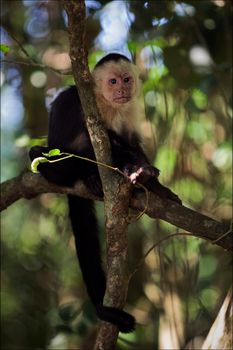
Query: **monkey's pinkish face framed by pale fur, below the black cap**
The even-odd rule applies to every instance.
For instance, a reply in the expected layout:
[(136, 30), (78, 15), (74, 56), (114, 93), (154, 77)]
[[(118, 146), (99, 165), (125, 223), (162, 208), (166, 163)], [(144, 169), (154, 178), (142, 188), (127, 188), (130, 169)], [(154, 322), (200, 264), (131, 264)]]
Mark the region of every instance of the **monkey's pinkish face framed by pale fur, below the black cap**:
[(135, 95), (135, 74), (130, 68), (127, 62), (106, 64), (95, 74), (98, 94), (114, 108), (130, 102)]

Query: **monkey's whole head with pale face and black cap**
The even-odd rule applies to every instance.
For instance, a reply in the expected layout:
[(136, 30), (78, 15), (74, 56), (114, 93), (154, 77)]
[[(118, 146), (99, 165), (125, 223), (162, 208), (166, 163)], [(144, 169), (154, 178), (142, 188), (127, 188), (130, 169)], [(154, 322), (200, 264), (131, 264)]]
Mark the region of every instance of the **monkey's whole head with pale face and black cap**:
[(93, 70), (93, 78), (96, 95), (116, 109), (129, 103), (139, 91), (136, 66), (120, 54), (103, 57)]

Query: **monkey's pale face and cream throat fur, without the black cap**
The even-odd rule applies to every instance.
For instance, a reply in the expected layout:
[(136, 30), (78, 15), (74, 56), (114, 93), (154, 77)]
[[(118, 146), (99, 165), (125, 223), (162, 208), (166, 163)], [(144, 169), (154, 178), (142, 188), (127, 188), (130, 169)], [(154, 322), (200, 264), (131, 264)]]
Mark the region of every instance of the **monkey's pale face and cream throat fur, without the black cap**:
[(107, 128), (118, 134), (136, 130), (143, 116), (137, 67), (125, 60), (109, 61), (96, 67), (92, 75), (96, 102)]

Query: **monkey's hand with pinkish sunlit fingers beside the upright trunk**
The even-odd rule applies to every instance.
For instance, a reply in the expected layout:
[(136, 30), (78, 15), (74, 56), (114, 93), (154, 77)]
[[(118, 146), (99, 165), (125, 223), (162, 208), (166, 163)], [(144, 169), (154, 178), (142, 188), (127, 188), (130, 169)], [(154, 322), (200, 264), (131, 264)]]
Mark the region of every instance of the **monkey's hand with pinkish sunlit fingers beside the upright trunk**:
[(133, 166), (125, 168), (124, 173), (128, 176), (132, 184), (144, 184), (151, 178), (157, 178), (159, 176), (159, 169), (151, 165), (140, 166), (139, 168)]

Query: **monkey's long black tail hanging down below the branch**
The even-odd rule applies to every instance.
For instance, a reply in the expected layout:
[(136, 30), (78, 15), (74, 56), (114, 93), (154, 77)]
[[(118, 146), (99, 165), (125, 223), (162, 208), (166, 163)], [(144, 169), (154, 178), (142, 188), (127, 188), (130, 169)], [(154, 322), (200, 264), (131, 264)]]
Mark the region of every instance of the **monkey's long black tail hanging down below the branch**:
[(135, 319), (130, 314), (103, 305), (106, 278), (102, 269), (98, 223), (94, 203), (90, 199), (68, 196), (69, 216), (87, 293), (96, 308), (97, 316), (116, 325), (121, 332), (132, 332)]

